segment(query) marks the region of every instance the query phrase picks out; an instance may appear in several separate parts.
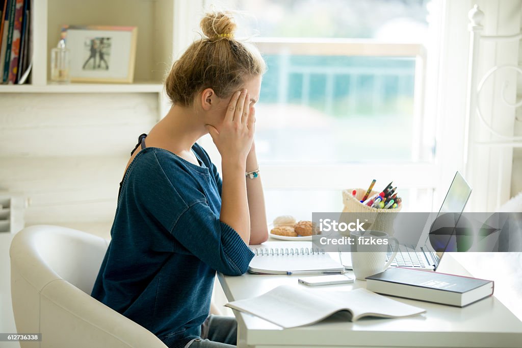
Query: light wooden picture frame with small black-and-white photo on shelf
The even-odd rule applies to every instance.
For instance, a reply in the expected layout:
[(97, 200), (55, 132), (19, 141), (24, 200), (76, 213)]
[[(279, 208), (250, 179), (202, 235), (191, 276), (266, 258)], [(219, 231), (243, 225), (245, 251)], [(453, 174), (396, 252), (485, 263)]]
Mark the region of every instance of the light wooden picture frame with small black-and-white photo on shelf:
[(137, 27), (63, 25), (71, 82), (133, 83)]

